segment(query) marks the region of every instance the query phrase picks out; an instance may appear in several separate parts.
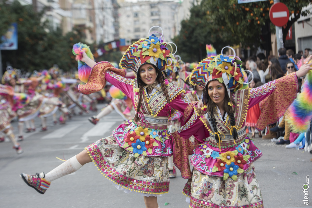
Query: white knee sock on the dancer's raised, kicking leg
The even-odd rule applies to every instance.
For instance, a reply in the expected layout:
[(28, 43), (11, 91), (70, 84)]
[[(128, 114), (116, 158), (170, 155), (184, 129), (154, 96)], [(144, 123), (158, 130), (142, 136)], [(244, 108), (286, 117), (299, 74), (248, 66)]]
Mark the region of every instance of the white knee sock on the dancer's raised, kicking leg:
[(49, 173), (45, 174), (45, 179), (49, 182), (54, 181), (60, 177), (66, 176), (68, 174), (74, 173), (79, 170), (82, 165), (78, 162), (76, 155), (61, 165), (57, 166)]

